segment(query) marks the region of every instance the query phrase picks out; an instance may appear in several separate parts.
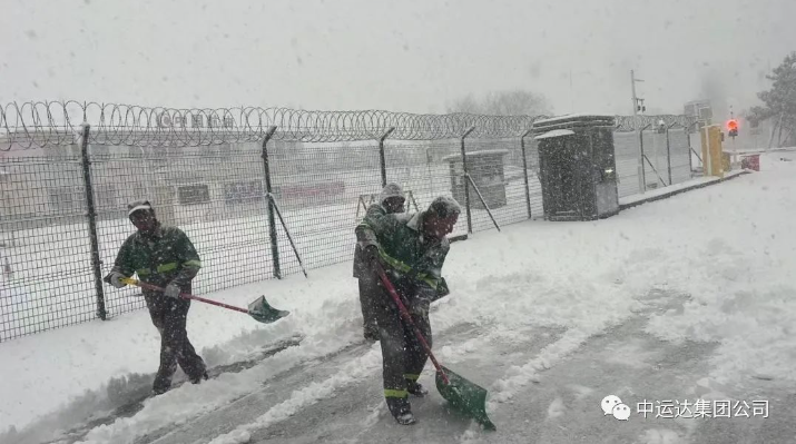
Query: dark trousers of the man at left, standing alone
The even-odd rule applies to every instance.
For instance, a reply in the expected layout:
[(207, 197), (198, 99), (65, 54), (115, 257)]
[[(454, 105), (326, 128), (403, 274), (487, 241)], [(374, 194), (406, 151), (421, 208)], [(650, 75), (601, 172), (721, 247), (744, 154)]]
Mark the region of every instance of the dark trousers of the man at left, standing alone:
[[(186, 292), (189, 292), (188, 288)], [(199, 382), (205, 375), (205, 362), (196, 354), (188, 341), (186, 320), (190, 300), (174, 299), (161, 293), (145, 293), (153, 324), (160, 332), (160, 367), (155, 376), (153, 391), (156, 394), (171, 387), (171, 377), (177, 364), (191, 382)]]

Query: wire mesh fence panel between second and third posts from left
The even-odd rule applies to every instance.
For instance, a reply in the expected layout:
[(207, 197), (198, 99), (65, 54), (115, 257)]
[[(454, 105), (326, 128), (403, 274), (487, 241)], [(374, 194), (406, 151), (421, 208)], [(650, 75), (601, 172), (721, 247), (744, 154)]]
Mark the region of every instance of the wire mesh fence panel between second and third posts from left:
[(287, 233), (308, 268), (353, 257), (360, 197), (381, 190), (379, 145), (293, 144), (269, 150), (269, 156), (273, 195), (285, 219), (284, 226), (276, 227), (281, 273), (301, 269)]

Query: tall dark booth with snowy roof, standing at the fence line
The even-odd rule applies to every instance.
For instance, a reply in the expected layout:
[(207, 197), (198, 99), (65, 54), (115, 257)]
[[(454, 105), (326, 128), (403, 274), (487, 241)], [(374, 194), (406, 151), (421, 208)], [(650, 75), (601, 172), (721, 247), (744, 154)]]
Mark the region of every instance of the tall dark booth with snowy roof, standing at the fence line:
[(619, 213), (615, 119), (563, 116), (533, 124), (547, 220), (594, 220)]

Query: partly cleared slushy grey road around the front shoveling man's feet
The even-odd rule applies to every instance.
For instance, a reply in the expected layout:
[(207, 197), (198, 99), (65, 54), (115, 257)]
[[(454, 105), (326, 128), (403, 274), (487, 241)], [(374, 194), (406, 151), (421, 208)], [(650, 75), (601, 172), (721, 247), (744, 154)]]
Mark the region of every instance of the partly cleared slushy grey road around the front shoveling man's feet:
[[(796, 394), (782, 389), (787, 384), (750, 381), (746, 388), (724, 386), (707, 377), (706, 357), (717, 343), (675, 344), (645, 332), (651, 314), (681, 310), (688, 300), (684, 295), (650, 292), (639, 298), (637, 313), (582, 343), (582, 332), (577, 329), (529, 326), (505, 335), (495, 326), (460, 324), (443, 332), (441, 345), (450, 366), (475, 382), (500, 378), (491, 386), (489, 405), (498, 432), (481, 432), (469, 418), (449, 411), (433, 391), (430, 397), (413, 401), (417, 425), (395, 424), (380, 396), (377, 348), (360, 345), (137, 442), (721, 444), (796, 438)], [(452, 348), (459, 353), (451, 353)], [(353, 366), (365, 371), (348, 379)], [(532, 372), (518, 366), (530, 366)], [(432, 381), (433, 373), (425, 376)], [(600, 403), (607, 395), (617, 395), (631, 407), (629, 421), (603, 415)], [(697, 399), (710, 401), (711, 412), (714, 402), (731, 401), (730, 415), (738, 416), (688, 417), (695, 416)], [(768, 403), (766, 418), (753, 407), (761, 401)], [(661, 407), (667, 402), (675, 406), (671, 414)], [(736, 402), (741, 403), (739, 412), (733, 411)], [(293, 414), (273, 414), (285, 405), (292, 405)], [(647, 418), (640, 413), (646, 405), (651, 411)]]

